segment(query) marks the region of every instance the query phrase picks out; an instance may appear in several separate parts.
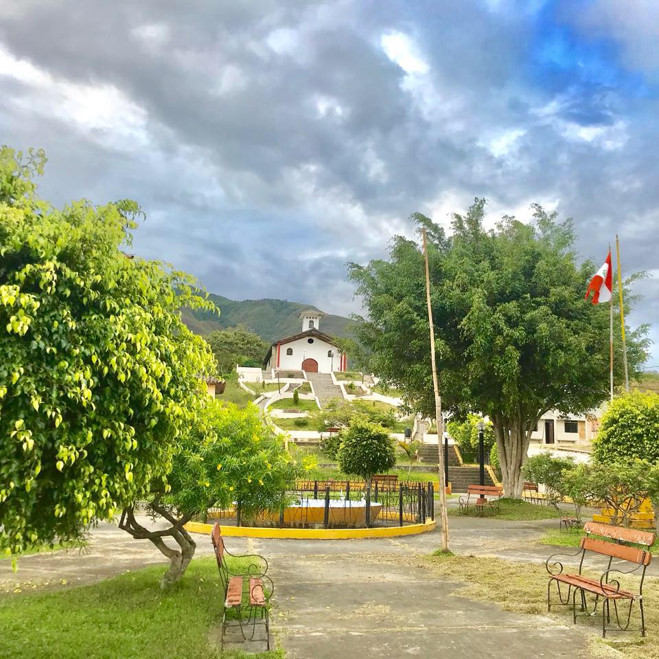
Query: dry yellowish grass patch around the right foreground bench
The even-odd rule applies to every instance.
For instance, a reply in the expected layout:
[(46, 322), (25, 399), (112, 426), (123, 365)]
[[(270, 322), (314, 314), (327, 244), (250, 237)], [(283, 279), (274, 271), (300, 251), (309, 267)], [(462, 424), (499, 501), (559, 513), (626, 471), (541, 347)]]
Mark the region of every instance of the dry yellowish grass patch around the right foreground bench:
[[(575, 570), (577, 568), (577, 564), (568, 565)], [(542, 565), (509, 562), (489, 557), (476, 558), (438, 553), (426, 558), (424, 566), (428, 570), (429, 577), (435, 575), (441, 579), (467, 584), (456, 592), (463, 597), (492, 602), (500, 605), (506, 611), (547, 615), (547, 574)], [(589, 576), (599, 579), (601, 572), (590, 573)], [(643, 600), (647, 637), (641, 638), (639, 632), (618, 632), (601, 640), (594, 635), (591, 640), (592, 656), (659, 659), (658, 586), (659, 579), (646, 577)], [(572, 610), (569, 607), (554, 607), (551, 616), (565, 625), (573, 626)], [(542, 622), (538, 621), (538, 625), (542, 625)], [(594, 634), (601, 633), (601, 618), (588, 622), (584, 622), (583, 618), (580, 618), (577, 627), (590, 628)], [(640, 627), (638, 605), (632, 612), (632, 627)], [(528, 633), (533, 632), (529, 629)], [(608, 645), (615, 647), (620, 654), (609, 654), (610, 650), (606, 647)], [(603, 654), (604, 652), (606, 654)], [(568, 651), (567, 654), (570, 655), (570, 652)], [(577, 656), (577, 654), (571, 656)]]

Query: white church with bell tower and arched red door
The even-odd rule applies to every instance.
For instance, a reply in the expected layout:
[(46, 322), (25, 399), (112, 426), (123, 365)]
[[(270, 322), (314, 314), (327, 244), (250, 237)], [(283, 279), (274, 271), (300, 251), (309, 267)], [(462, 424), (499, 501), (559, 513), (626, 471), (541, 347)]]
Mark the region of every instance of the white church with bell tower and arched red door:
[(336, 338), (320, 331), (323, 316), (323, 312), (315, 309), (301, 312), (298, 318), (302, 319), (302, 331), (273, 343), (264, 359), (264, 369), (306, 373), (347, 371), (348, 358), (340, 351)]

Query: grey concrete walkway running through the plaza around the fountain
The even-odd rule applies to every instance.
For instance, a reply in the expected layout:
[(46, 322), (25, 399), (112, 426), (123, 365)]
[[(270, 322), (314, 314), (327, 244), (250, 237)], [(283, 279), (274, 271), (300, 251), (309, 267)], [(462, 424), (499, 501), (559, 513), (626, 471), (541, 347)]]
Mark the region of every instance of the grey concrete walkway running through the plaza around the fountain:
[[(554, 550), (534, 542), (552, 523), (452, 518), (452, 549), (540, 563)], [(276, 589), (273, 630), (288, 659), (590, 656), (583, 629), (505, 612), (456, 595), (459, 583), (426, 579), (417, 559), (437, 549), (437, 532), (382, 540), (230, 538), (227, 544), (233, 553), (268, 558)], [(211, 553), (209, 539), (198, 536), (197, 555)], [(87, 553), (23, 557), (15, 574), (9, 561), (0, 561), (0, 590), (60, 586), (61, 579), (68, 587), (150, 564), (165, 562), (149, 542), (100, 524)]]

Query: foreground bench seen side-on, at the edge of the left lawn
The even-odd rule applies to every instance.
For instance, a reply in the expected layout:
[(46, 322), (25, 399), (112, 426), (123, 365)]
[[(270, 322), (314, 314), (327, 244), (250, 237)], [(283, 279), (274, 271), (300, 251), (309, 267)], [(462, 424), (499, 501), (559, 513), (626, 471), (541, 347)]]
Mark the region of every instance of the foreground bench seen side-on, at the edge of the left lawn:
[[(211, 531), (211, 540), (215, 549), (215, 557), (218, 562), (220, 571), (220, 583), (224, 591), (224, 610), (222, 612), (222, 643), (224, 642), (224, 632), (228, 627), (240, 627), (240, 634), (243, 640), (248, 640), (245, 634), (245, 627), (252, 625), (252, 633), (249, 640), (254, 640), (256, 632), (257, 618), (266, 629), (266, 643), (270, 649), (270, 597), (273, 596), (275, 584), (273, 580), (266, 575), (268, 572), (268, 562), (258, 554), (232, 554), (224, 546), (224, 538), (220, 530), (220, 524), (213, 524)], [(249, 562), (246, 568), (233, 570), (227, 565), (227, 555), (235, 559), (255, 559)], [(243, 621), (243, 610), (249, 610), (248, 618)], [(236, 614), (238, 625), (227, 625), (227, 610), (233, 610)]]

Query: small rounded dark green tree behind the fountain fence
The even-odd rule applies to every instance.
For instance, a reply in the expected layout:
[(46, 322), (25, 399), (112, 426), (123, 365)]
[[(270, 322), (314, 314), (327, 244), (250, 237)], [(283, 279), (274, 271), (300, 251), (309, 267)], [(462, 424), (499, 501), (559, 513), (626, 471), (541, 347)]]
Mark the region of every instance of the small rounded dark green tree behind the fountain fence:
[(344, 474), (360, 476), (370, 483), (374, 474), (395, 467), (396, 451), (386, 428), (372, 424), (365, 417), (354, 417), (340, 435), (336, 459)]

